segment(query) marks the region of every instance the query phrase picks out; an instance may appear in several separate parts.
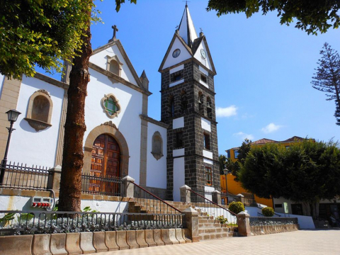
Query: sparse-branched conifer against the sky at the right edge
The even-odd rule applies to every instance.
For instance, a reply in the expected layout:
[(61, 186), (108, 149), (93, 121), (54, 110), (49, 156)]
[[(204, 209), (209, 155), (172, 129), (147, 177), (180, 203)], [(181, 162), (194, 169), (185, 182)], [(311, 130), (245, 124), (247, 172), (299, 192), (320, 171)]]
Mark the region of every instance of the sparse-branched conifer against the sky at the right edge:
[(327, 42), (324, 42), (323, 50), (320, 50), (322, 55), (319, 59), (319, 67), (312, 81), (312, 87), (319, 91), (327, 93), (326, 100), (335, 100), (335, 118), (336, 125), (340, 125), (340, 57), (336, 50), (331, 48)]

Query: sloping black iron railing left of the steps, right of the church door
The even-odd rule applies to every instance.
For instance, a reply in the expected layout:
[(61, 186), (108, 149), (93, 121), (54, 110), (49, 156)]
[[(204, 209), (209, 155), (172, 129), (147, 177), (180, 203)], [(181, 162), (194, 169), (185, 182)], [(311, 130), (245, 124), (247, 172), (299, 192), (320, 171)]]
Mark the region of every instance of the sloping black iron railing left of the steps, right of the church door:
[(131, 183), (135, 186), (134, 199), (137, 205), (140, 205), (140, 210), (144, 210), (147, 213), (182, 214), (180, 210), (169, 205), (169, 203), (166, 203), (164, 200), (150, 193), (145, 188), (142, 188), (134, 182)]

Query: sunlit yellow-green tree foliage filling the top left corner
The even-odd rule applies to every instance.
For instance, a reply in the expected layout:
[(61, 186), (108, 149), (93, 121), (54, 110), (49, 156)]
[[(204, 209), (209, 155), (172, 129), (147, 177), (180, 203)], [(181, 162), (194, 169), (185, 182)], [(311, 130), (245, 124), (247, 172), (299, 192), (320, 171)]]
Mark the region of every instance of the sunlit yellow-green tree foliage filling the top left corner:
[[(1, 1), (0, 73), (33, 77), (35, 66), (62, 71), (60, 60), (81, 49), (93, 4), (76, 0)], [(96, 21), (96, 16), (91, 18)]]

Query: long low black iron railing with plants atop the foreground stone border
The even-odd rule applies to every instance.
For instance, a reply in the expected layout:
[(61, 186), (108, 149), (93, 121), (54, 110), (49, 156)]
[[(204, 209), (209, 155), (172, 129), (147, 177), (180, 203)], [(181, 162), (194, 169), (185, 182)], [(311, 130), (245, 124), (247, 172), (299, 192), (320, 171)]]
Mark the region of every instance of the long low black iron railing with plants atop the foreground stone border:
[(0, 211), (0, 236), (182, 227), (179, 214)]

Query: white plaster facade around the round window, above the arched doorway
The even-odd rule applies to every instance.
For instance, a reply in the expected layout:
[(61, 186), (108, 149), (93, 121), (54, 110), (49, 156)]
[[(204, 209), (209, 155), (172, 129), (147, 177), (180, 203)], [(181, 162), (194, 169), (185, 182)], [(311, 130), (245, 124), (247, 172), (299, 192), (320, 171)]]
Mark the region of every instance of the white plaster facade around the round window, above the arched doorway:
[[(102, 123), (110, 120), (125, 137), (129, 148), (129, 176), (139, 183), (140, 180), (140, 132), (142, 113), (142, 94), (120, 83), (113, 84), (108, 77), (90, 70), (91, 81), (87, 87), (88, 96), (85, 101), (86, 132), (84, 142), (89, 132)], [(101, 99), (106, 94), (113, 94), (120, 104), (118, 117), (108, 118), (101, 106)]]

